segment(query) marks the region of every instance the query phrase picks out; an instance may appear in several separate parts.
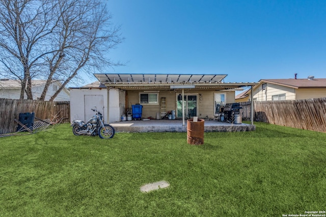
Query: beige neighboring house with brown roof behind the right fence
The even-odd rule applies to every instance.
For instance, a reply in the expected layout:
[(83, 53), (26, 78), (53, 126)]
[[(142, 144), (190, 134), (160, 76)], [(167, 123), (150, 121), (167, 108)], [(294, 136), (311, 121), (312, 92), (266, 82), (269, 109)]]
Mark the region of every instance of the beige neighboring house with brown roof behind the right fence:
[[(237, 102), (248, 102), (251, 90), (236, 96)], [(253, 88), (254, 101), (303, 100), (326, 97), (326, 78), (261, 79)]]

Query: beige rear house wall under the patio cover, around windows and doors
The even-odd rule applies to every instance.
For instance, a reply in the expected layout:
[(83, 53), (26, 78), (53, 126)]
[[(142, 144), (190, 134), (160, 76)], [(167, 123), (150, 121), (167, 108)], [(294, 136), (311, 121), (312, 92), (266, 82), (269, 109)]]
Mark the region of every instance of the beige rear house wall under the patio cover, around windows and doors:
[[(128, 108), (131, 109), (131, 105), (139, 103), (139, 92), (144, 90), (127, 90)], [(199, 118), (214, 117), (214, 92), (216, 91), (198, 91), (198, 90), (185, 90), (184, 94), (197, 95), (197, 112)], [(235, 102), (235, 91), (220, 91), (219, 93), (226, 94), (226, 103)], [(177, 110), (176, 100), (177, 95), (181, 94), (181, 90), (161, 90), (158, 92), (159, 105), (143, 105), (142, 117), (154, 117), (156, 113), (160, 112), (160, 98), (165, 97), (167, 101), (167, 111)]]

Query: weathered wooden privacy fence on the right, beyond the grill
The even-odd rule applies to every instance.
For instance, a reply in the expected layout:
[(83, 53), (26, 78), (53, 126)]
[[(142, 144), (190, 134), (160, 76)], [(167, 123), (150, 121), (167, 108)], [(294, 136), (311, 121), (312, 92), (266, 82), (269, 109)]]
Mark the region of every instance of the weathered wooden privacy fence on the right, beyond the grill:
[[(240, 103), (242, 117), (250, 118), (250, 102)], [(326, 98), (255, 101), (254, 120), (275, 125), (326, 132)]]

